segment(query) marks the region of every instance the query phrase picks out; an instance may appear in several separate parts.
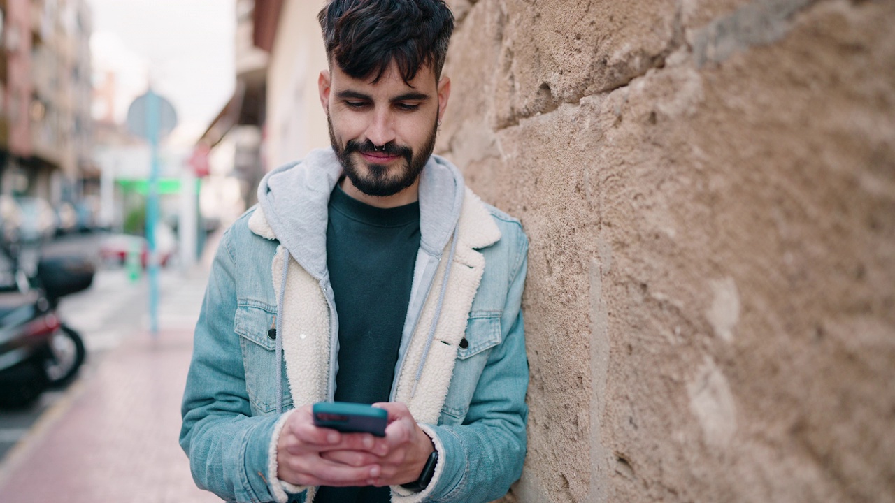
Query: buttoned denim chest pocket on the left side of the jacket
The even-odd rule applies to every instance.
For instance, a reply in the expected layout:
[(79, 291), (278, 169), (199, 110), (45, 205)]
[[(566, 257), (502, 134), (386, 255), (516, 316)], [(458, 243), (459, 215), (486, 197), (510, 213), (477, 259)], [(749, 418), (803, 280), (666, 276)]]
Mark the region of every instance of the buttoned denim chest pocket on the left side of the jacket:
[[(249, 394), (252, 413), (263, 415), (277, 411), (277, 339), (269, 337), (274, 328), (276, 308), (265, 303), (239, 302), (236, 307), (234, 330), (239, 335), (243, 350), (245, 388)], [(292, 394), (286, 379), (286, 365), (280, 362), (283, 373), (283, 410), (292, 408)]]

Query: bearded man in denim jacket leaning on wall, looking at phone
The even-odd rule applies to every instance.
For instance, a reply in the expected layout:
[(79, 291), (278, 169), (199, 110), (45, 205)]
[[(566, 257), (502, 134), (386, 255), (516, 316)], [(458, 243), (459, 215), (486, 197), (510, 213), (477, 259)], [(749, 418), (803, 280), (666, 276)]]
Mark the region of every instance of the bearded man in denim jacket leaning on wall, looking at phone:
[[(450, 95), (440, 0), (331, 0), (332, 149), (269, 173), (209, 278), (183, 396), (200, 487), (236, 501), (489, 501), (522, 472), (519, 222), (432, 149)], [(384, 438), (311, 405), (388, 411)]]

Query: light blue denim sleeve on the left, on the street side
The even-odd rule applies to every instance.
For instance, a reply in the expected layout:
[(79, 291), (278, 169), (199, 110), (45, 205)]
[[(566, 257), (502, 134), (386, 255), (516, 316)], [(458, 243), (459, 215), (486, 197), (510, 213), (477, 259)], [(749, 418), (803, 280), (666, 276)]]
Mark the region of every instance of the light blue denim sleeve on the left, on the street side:
[(229, 237), (228, 231), (217, 249), (196, 324), (180, 445), (200, 488), (226, 501), (273, 501), (268, 457), (279, 416), (251, 414), (242, 349), (234, 332), (236, 269)]

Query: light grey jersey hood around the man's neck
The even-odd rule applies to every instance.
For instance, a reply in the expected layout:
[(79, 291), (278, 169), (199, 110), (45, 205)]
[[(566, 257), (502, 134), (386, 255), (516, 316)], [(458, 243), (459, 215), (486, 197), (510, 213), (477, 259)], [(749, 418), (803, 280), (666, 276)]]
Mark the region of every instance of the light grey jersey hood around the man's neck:
[[(332, 149), (271, 171), (260, 182), (258, 201), (277, 240), (311, 276), (327, 277), (328, 200), (342, 176)], [(439, 257), (451, 239), (463, 207), (460, 171), (431, 156), (420, 175), (420, 248)]]

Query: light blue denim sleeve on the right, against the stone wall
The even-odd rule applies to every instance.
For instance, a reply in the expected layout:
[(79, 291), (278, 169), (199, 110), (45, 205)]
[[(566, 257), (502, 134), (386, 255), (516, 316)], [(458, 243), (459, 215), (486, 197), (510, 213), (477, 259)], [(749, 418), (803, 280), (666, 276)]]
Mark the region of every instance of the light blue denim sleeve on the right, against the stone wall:
[[(521, 234), (521, 233), (520, 233)], [(499, 499), (522, 475), (528, 407), (528, 360), (522, 292), (528, 241), (521, 234), (515, 275), (511, 276), (501, 318), (501, 343), (491, 349), (462, 425), (421, 425), (439, 448), (437, 478), (401, 501), (485, 502)]]

